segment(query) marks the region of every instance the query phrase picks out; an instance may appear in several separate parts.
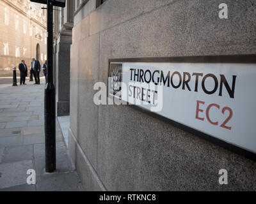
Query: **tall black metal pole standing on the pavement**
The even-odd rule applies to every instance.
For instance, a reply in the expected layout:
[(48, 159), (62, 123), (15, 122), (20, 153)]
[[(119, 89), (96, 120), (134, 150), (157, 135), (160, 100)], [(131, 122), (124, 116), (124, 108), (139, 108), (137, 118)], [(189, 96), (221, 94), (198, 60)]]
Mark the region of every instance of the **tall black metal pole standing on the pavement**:
[(55, 87), (52, 62), (52, 2), (47, 0), (47, 84), (44, 95), (45, 171), (56, 171)]

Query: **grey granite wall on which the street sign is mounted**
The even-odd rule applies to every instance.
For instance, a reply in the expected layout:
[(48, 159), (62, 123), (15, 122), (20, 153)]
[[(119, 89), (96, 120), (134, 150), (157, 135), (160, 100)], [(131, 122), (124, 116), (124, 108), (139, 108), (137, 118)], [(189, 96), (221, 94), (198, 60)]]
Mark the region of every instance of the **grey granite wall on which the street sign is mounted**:
[[(68, 148), (87, 191), (255, 191), (256, 163), (127, 105), (93, 103), (108, 60), (255, 54), (253, 0), (90, 0), (74, 16)], [(218, 183), (228, 170), (228, 185)]]

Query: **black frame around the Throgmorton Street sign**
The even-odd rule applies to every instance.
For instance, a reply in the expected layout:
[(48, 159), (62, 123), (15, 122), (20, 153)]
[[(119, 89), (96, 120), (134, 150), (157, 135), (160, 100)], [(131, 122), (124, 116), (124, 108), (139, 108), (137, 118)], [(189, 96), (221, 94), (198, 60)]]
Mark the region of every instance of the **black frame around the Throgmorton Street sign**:
[[(124, 62), (189, 62), (189, 63), (235, 63), (235, 64), (256, 64), (256, 54), (246, 54), (246, 55), (200, 55), (200, 56), (179, 56), (179, 57), (145, 57), (145, 58), (118, 58), (118, 59), (109, 59), (108, 64), (108, 77), (110, 76), (110, 65), (111, 63), (124, 63)], [(108, 85), (109, 87), (109, 85)], [(255, 87), (256, 89), (256, 87)], [(109, 96), (109, 90), (108, 90)], [(172, 124), (176, 128), (182, 129), (188, 133), (191, 133), (194, 136), (198, 136), (208, 142), (214, 143), (224, 149), (230, 150), (230, 152), (234, 152), (239, 154), (240, 156), (244, 156), (248, 159), (256, 161), (256, 154), (250, 152), (250, 150), (243, 149), (237, 145), (232, 143), (225, 142), (219, 138), (208, 135), (207, 133), (203, 133), (202, 131), (190, 128), (184, 124), (180, 124), (175, 120), (168, 119), (162, 115), (157, 114), (156, 112), (150, 112), (141, 106), (129, 104), (125, 101), (129, 106), (143, 112), (151, 117), (155, 117), (163, 122), (168, 124)]]

